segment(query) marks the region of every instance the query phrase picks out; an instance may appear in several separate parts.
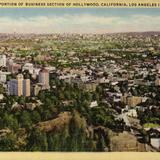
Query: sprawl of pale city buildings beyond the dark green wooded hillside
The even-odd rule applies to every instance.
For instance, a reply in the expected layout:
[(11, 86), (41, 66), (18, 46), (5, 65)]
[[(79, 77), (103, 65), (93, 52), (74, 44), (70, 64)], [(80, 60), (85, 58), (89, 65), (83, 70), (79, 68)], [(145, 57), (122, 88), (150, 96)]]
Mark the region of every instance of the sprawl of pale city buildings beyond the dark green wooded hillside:
[[(49, 35), (48, 37), (42, 36), (35, 41), (40, 42), (49, 37)], [(19, 58), (12, 54), (1, 54), (0, 83), (6, 88), (8, 95), (37, 96), (41, 90), (50, 90), (49, 81), (54, 75), (55, 78), (67, 83), (76, 83), (89, 92), (94, 92), (97, 86), (101, 86), (101, 103), (110, 104), (111, 107), (115, 108), (118, 114), (117, 118), (123, 119), (128, 126), (132, 125), (128, 117), (137, 119), (139, 110), (145, 111), (148, 107), (158, 107), (156, 106), (158, 104), (144, 105), (158, 95), (152, 88), (159, 88), (160, 86), (159, 58), (149, 55), (157, 52), (152, 45), (160, 41), (157, 35), (145, 39), (141, 35), (132, 34), (101, 35), (100, 37), (96, 37), (96, 35), (55, 35), (54, 38), (65, 42), (67, 38), (72, 39), (73, 37), (78, 42), (89, 39), (96, 42), (105, 38), (106, 41), (119, 43), (121, 47), (113, 46), (105, 51), (102, 49), (98, 54), (84, 53), (82, 55), (75, 51), (68, 51), (58, 58), (49, 54), (46, 54), (46, 56), (36, 55), (34, 60), (45, 61), (45, 67), (36, 64), (30, 56)], [(137, 43), (137, 39), (140, 43)], [(147, 46), (147, 50), (143, 44)], [(31, 52), (32, 48), (24, 46), (23, 50)], [(46, 53), (52, 50), (51, 47), (40, 48), (41, 52)], [(54, 48), (54, 52), (57, 50), (57, 48)], [(60, 68), (55, 64), (47, 63), (50, 60), (64, 67)], [(67, 66), (67, 64), (69, 65)], [(16, 76), (13, 78), (12, 75)], [(10, 79), (7, 77), (10, 77)], [(146, 88), (151, 89), (145, 91)], [(91, 102), (90, 107), (97, 107), (99, 103), (95, 99)], [(150, 129), (147, 128), (147, 131)], [(157, 128), (154, 129), (159, 133)], [(148, 131), (149, 134), (150, 132)], [(151, 136), (151, 144), (159, 149), (159, 137), (158, 140), (153, 138), (154, 136)]]

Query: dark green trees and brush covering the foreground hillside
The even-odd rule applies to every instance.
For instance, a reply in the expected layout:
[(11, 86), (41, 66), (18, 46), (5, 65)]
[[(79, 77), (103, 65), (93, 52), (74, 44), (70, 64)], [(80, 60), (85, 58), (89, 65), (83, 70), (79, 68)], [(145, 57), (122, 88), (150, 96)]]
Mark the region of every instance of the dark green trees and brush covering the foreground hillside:
[[(108, 129), (122, 122), (114, 119), (109, 107), (99, 104), (90, 108), (91, 101), (100, 99), (100, 87), (95, 92), (84, 91), (76, 84), (52, 80), (50, 91), (37, 97), (7, 96), (0, 108), (1, 151), (104, 151), (109, 150)], [(26, 109), (29, 102), (40, 100), (34, 110)], [(18, 102), (19, 107), (13, 107)], [(54, 120), (68, 112), (71, 120), (59, 130), (47, 132), (37, 127), (39, 122)]]

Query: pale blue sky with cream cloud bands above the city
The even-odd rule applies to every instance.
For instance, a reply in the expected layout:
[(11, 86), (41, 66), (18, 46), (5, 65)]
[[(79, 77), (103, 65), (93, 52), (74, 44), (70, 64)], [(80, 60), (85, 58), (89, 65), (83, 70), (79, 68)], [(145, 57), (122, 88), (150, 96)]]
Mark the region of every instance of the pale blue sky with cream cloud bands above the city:
[(160, 31), (160, 8), (1, 8), (0, 33)]

